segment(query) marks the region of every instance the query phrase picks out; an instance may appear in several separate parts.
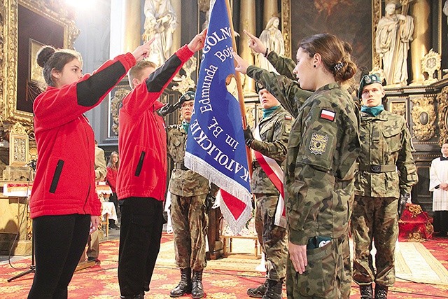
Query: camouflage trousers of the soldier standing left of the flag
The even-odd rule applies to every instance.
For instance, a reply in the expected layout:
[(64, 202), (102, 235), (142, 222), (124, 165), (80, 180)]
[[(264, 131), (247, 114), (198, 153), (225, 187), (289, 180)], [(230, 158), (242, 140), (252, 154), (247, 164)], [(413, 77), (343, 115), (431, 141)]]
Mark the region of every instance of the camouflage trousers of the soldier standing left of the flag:
[(176, 266), (202, 271), (207, 265), (205, 244), (209, 216), (205, 211), (207, 194), (183, 197), (172, 194), (170, 214), (174, 234)]

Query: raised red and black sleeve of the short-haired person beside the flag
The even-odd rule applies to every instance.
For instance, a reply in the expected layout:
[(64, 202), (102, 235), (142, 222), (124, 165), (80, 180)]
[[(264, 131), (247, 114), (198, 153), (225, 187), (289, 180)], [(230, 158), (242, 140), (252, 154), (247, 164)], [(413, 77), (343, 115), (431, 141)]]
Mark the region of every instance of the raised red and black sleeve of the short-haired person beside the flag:
[[(168, 60), (156, 69), (145, 82), (138, 85), (123, 99), (123, 108), (130, 116), (140, 116), (141, 111), (151, 107), (163, 90), (176, 76), (183, 64), (193, 56), (187, 45), (176, 51)], [(149, 93), (149, 94), (148, 94)]]

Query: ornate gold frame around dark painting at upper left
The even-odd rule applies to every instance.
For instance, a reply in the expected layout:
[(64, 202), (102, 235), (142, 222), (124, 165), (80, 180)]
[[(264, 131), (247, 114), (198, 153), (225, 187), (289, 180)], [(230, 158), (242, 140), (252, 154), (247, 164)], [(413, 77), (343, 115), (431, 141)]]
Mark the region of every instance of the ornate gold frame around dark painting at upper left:
[(3, 0), (0, 4), (0, 124), (20, 122), (32, 126), (33, 114), (16, 109), (18, 73), (18, 6), (48, 18), (64, 27), (64, 48), (73, 48), (79, 34), (69, 13), (59, 1)]

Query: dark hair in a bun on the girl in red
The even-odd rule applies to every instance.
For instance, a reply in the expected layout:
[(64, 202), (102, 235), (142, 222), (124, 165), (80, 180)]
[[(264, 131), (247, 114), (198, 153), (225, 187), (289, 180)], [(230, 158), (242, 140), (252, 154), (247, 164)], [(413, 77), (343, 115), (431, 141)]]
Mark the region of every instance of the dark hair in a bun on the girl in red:
[(80, 53), (74, 50), (55, 49), (52, 46), (44, 46), (38, 51), (36, 62), (42, 68), (45, 83), (49, 86), (55, 86), (54, 78), (52, 78), (52, 70), (62, 71), (65, 64), (75, 59), (79, 60), (81, 64), (83, 63)]

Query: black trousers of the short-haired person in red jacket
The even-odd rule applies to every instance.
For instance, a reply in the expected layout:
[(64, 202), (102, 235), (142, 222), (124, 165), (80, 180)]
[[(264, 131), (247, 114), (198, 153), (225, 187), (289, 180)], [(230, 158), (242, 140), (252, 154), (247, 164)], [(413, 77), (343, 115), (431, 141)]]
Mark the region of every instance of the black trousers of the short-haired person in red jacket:
[(122, 296), (149, 291), (162, 237), (163, 202), (151, 197), (123, 200), (118, 257)]

